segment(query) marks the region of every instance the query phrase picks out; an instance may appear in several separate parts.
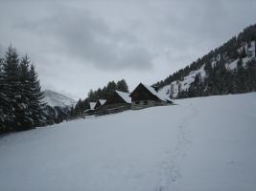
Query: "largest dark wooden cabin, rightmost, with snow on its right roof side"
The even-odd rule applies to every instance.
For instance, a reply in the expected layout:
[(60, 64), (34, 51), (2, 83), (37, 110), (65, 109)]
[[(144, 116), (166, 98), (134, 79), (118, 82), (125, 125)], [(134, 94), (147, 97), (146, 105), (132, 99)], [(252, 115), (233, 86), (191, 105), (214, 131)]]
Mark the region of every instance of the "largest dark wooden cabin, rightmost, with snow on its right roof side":
[(142, 109), (172, 103), (168, 96), (160, 95), (152, 87), (143, 83), (140, 83), (129, 96), (131, 97), (131, 109)]

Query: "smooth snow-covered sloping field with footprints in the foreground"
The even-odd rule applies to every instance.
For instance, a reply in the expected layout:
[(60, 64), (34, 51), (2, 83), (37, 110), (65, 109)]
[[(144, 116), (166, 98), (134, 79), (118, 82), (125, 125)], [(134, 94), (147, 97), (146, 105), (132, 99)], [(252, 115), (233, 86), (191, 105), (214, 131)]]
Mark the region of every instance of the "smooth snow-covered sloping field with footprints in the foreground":
[(256, 190), (256, 94), (175, 102), (0, 138), (0, 190)]

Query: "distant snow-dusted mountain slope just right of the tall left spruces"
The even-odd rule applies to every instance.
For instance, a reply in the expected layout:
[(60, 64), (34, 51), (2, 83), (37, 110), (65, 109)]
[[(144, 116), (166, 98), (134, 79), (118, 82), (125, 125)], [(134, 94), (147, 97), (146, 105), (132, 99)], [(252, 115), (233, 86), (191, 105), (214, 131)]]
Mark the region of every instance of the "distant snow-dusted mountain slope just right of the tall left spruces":
[(43, 101), (47, 103), (47, 105), (51, 107), (71, 107), (72, 105), (75, 105), (77, 101), (74, 99), (61, 95), (57, 92), (54, 92), (52, 90), (45, 90), (44, 91), (44, 98)]

